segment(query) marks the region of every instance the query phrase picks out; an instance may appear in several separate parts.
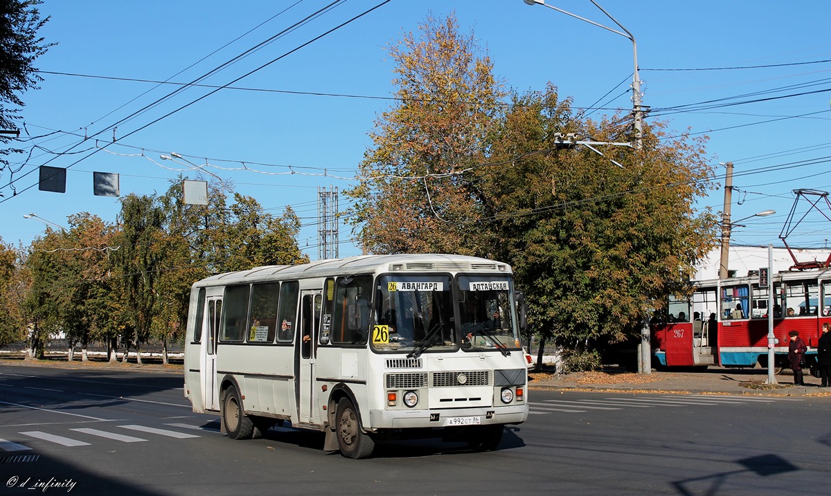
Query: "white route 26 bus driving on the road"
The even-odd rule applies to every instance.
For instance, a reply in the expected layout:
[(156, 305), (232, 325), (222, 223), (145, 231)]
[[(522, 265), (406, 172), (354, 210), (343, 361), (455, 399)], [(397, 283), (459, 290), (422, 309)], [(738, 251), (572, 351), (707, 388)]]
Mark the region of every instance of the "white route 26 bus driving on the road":
[(193, 285), (184, 394), (231, 439), (288, 421), (350, 458), (411, 435), (492, 450), (529, 415), (524, 319), (510, 266), (470, 256), (214, 275)]

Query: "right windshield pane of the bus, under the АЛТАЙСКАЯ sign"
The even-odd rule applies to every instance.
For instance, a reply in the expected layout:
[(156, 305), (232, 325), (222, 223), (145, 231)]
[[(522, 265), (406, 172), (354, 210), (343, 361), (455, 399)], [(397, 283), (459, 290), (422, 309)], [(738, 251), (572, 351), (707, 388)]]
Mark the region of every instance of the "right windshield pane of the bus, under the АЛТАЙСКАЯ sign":
[(461, 346), (464, 349), (519, 348), (511, 280), (489, 275), (459, 277)]

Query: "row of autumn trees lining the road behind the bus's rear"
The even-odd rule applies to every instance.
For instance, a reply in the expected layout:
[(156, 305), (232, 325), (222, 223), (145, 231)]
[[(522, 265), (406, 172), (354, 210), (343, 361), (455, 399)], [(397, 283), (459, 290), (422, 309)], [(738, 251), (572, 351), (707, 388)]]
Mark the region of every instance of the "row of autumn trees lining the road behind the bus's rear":
[(140, 352), (154, 340), (167, 362), (167, 345), (184, 336), (196, 280), (308, 261), (290, 207), (273, 216), (221, 183), (211, 184), (209, 199), (184, 204), (176, 180), (164, 195), (122, 198), (114, 224), (82, 212), (67, 230), (47, 227), (28, 250), (0, 243), (0, 303), (11, 309), (0, 317), (0, 345), (26, 340), (28, 356), (42, 357), (44, 344), (62, 335), (71, 348), (81, 345), (83, 360), (93, 342), (107, 343), (115, 360), (119, 343)]

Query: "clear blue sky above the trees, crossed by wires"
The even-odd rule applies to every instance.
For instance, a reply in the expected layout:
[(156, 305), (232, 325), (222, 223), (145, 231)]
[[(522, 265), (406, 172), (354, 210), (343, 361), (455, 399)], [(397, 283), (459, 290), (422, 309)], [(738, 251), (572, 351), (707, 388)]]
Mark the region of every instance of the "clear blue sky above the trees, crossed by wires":
[[(66, 216), (76, 212), (115, 221), (119, 203), (92, 195), (92, 173), (120, 173), (122, 195), (165, 192), (178, 174), (167, 168), (184, 167), (162, 161), (160, 154), (175, 152), (193, 163), (207, 158), (224, 168), (246, 163), (260, 171), (211, 169), (275, 215), (292, 205), (304, 223), (300, 245), (317, 259), (317, 188), (343, 190), (352, 184), (343, 178), (354, 177), (376, 116), (393, 105), (393, 66), (384, 46), (416, 30), (428, 12), (437, 17), (455, 12), (510, 88), (542, 90), (551, 81), (576, 106), (597, 102), (632, 108), (627, 92), (632, 42), (587, 22), (522, 0), (391, 0), (302, 46), (381, 3), (346, 0), (202, 81), (228, 85), (273, 61), (233, 84), (256, 90), (208, 95), (213, 89), (191, 87), (118, 124), (118, 141), (106, 151), (78, 163), (89, 152), (55, 154), (111, 142), (114, 123), (177, 88), (136, 80), (195, 80), (332, 1), (46, 0), (41, 12), (52, 19), (41, 34), (58, 44), (37, 66), (76, 75), (43, 74), (41, 90), (23, 95), (29, 136), (44, 137), (22, 143), (27, 149), (37, 145), (26, 163), (25, 157), (12, 158), (20, 168), (13, 182), (17, 195), (8, 185), (8, 171), (0, 175), (2, 240), (25, 246), (42, 234), (44, 223), (23, 217), (30, 212), (64, 226)], [(831, 3), (598, 2), (637, 40), (643, 103), (653, 109), (647, 122), (668, 119), (671, 129), (708, 134), (711, 163), (735, 163), (734, 220), (767, 209), (777, 212), (741, 222), (745, 227), (734, 230), (732, 242), (779, 245), (779, 231), (794, 204), (792, 190), (831, 190), (831, 38), (826, 34)], [(615, 27), (588, 0), (549, 3)], [(701, 71), (748, 66), (767, 67)], [(792, 96), (809, 92), (814, 93)], [(761, 99), (771, 100), (661, 110)], [(95, 139), (81, 143), (85, 134)], [(67, 172), (65, 194), (32, 187), (37, 166), (49, 160), (55, 167), (75, 163)], [(187, 177), (198, 178), (194, 172)], [(720, 211), (722, 202), (719, 188), (700, 207)], [(347, 198), (342, 196), (340, 204), (347, 207)], [(823, 247), (831, 239), (829, 228), (831, 221), (813, 212), (795, 233), (801, 236), (789, 238), (789, 244)], [(347, 226), (340, 237), (351, 237)], [(358, 247), (342, 243), (340, 255), (359, 254)]]

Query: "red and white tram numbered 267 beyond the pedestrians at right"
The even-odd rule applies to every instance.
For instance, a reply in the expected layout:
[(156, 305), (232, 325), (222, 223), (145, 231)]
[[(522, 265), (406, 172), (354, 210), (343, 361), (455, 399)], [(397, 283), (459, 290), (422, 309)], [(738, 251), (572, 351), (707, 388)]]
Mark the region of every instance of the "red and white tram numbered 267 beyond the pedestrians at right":
[(768, 312), (774, 316), (775, 367), (786, 366), (788, 333), (799, 331), (815, 367), (820, 329), (831, 323), (831, 270), (773, 275), (773, 308), (768, 285), (758, 275), (696, 281), (690, 301), (670, 299), (666, 314), (653, 319), (652, 356), (665, 367), (767, 367)]

